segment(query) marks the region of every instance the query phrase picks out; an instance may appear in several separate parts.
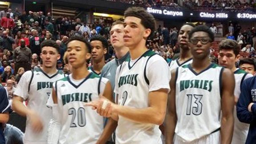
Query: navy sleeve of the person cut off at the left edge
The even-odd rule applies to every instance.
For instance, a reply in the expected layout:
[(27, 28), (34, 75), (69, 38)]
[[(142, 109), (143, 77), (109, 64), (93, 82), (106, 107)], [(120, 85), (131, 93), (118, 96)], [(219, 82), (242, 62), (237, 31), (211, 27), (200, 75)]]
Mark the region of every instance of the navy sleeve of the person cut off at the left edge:
[(0, 113), (11, 112), (11, 105), (8, 100), (7, 90), (0, 87)]

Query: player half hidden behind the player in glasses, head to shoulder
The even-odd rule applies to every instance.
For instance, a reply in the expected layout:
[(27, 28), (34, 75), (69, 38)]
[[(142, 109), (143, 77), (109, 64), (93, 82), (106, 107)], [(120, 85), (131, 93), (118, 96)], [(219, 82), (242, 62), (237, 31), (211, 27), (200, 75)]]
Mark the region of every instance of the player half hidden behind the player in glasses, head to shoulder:
[(179, 31), (178, 35), (178, 44), (180, 46), (180, 57), (176, 60), (172, 60), (169, 63), (170, 71), (176, 69), (180, 66), (191, 64), (192, 63), (192, 55), (190, 49), (188, 48), (188, 32), (194, 28), (195, 25), (187, 23), (184, 24)]

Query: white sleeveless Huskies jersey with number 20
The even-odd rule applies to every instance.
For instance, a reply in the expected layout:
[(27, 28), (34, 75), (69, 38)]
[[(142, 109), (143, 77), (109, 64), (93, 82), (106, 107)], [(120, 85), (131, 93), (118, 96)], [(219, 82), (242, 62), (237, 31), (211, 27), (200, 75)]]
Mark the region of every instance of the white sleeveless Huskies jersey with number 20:
[(71, 75), (53, 86), (62, 115), (59, 144), (96, 144), (103, 132), (103, 117), (84, 104), (99, 98), (108, 79), (92, 72), (80, 84), (74, 84), (70, 79)]

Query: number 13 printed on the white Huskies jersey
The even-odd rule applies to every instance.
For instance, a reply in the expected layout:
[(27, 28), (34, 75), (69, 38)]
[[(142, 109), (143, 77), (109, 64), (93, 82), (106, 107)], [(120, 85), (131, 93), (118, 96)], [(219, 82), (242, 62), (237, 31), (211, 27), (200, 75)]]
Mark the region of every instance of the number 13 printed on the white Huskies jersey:
[[(193, 115), (200, 115), (202, 113), (203, 104), (201, 103), (203, 95), (187, 95), (188, 96), (188, 104), (187, 104), (187, 115), (191, 115), (191, 109)], [(192, 101), (196, 106), (192, 107)]]

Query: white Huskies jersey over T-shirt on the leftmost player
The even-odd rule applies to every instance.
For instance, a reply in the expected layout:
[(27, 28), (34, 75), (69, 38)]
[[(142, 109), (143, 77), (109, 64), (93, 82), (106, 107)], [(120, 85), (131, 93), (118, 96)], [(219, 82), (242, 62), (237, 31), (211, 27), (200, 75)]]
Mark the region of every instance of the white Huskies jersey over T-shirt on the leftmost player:
[(27, 71), (21, 76), (14, 95), (28, 100), (28, 108), (40, 116), (44, 125), (42, 132), (36, 133), (32, 130), (32, 126), (27, 119), (23, 137), (24, 144), (47, 143), (47, 129), (49, 121), (52, 119), (52, 111), (46, 107), (46, 103), (52, 92), (52, 84), (64, 77), (65, 75), (62, 71), (49, 76), (41, 68), (37, 68), (33, 72)]

